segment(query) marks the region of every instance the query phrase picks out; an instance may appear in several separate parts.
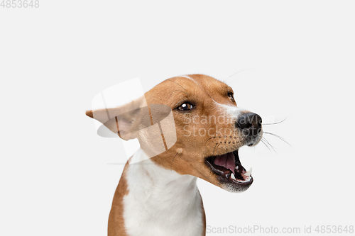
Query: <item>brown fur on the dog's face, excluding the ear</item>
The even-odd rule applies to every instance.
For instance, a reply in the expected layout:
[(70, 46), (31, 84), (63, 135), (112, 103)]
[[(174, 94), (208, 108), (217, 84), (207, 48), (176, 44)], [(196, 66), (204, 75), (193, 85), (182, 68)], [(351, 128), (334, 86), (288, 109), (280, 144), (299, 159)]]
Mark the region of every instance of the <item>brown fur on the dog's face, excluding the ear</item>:
[[(197, 111), (194, 111), (195, 113), (192, 116), (196, 115), (198, 118), (202, 116), (221, 116), (214, 101), (236, 106), (236, 103), (232, 102), (227, 96), (228, 92), (233, 90), (223, 82), (219, 82), (217, 79), (202, 74), (192, 74), (190, 77), (192, 77), (194, 81), (184, 77), (175, 77), (158, 84), (145, 94), (147, 103), (163, 103), (174, 109), (175, 106), (179, 105), (179, 102), (184, 101), (186, 94), (183, 92), (186, 92), (190, 94), (190, 100), (188, 101), (194, 102), (197, 106)], [(160, 164), (160, 166), (165, 169), (170, 169), (173, 161), (172, 169), (176, 172), (197, 176), (214, 185), (221, 186), (217, 177), (211, 172), (209, 167), (204, 164), (204, 158), (212, 155), (217, 142), (223, 143), (226, 141), (227, 143), (234, 140), (234, 144), (231, 142), (230, 144), (228, 143), (228, 145), (219, 145), (219, 147), (214, 150), (215, 153), (218, 151), (219, 154), (226, 153), (226, 150), (230, 152), (231, 148), (237, 149), (241, 146), (241, 142), (238, 142), (239, 133), (237, 133), (237, 130), (234, 128), (234, 124), (224, 123), (222, 127), (220, 127), (222, 129), (235, 130), (235, 133), (229, 137), (219, 135), (209, 140), (210, 136), (206, 135), (205, 137), (195, 138), (192, 142), (191, 137), (184, 136), (182, 127), (185, 125), (185, 119), (182, 114), (175, 111), (174, 120), (175, 127), (177, 128), (177, 142), (170, 150), (151, 158), (152, 161)], [(216, 123), (207, 123), (204, 125), (201, 124), (200, 121), (201, 120), (197, 121), (199, 128), (210, 129), (212, 130), (210, 132), (211, 134), (217, 131)], [(178, 150), (183, 151), (173, 160)]]

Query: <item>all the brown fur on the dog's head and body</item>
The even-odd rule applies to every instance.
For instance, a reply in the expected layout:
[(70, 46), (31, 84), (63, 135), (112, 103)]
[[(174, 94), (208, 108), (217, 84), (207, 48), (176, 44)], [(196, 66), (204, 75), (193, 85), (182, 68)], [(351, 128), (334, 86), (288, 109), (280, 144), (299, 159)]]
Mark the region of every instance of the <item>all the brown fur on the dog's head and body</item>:
[[(219, 82), (217, 79), (203, 74), (192, 74), (190, 77), (193, 80), (185, 77), (167, 79), (145, 94), (148, 106), (150, 104), (165, 104), (170, 106), (173, 111), (176, 135), (178, 138), (173, 147), (162, 154), (152, 157), (151, 160), (165, 169), (173, 169), (179, 174), (197, 176), (198, 178), (209, 181), (216, 186), (222, 186), (217, 179), (217, 176), (206, 164), (204, 164), (205, 158), (212, 156), (213, 154), (231, 152), (232, 149), (236, 150), (244, 144), (241, 141), (240, 134), (236, 130), (234, 123), (223, 123), (220, 125), (214, 121), (212, 123), (204, 124), (202, 123), (202, 116), (221, 116), (222, 114), (217, 103), (236, 106), (235, 101), (231, 100), (228, 96), (228, 93), (233, 91), (223, 82)], [(177, 111), (177, 106), (185, 101), (194, 103), (196, 108), (190, 113), (181, 113), (180, 111)], [(141, 101), (138, 99), (132, 103), (141, 104)], [(120, 109), (125, 110), (126, 106), (111, 109), (116, 109), (116, 111), (119, 111)], [(102, 112), (104, 112), (104, 109)], [(120, 111), (119, 113), (122, 112)], [(87, 111), (87, 116), (93, 117), (93, 112)], [(185, 136), (186, 131), (183, 128), (186, 125), (185, 116), (188, 118), (197, 116), (196, 120), (198, 121), (197, 125), (190, 124), (191, 127), (187, 128), (187, 130), (192, 131), (192, 128), (194, 127), (204, 128), (205, 130), (209, 129), (210, 134), (212, 135), (205, 135), (204, 137), (199, 138)], [(134, 118), (135, 121), (132, 126), (142, 123), (143, 121), (140, 120), (141, 117), (143, 116), (139, 116), (138, 114)], [(148, 122), (148, 120), (144, 122)], [(107, 121), (105, 125), (107, 125), (107, 127), (114, 133), (121, 133), (121, 130), (117, 128), (118, 124), (114, 119)], [(228, 136), (217, 134), (217, 128), (222, 128), (222, 130), (229, 129), (232, 130), (232, 133)], [(128, 164), (126, 164), (121, 180), (119, 181), (119, 186), (114, 194), (114, 201), (109, 215), (109, 236), (126, 236), (124, 230), (124, 218), (122, 215), (124, 207), (122, 202), (128, 191), (125, 176), (127, 167)], [(205, 215), (203, 216), (203, 222), (204, 227), (206, 227)], [(203, 235), (205, 235), (205, 230)]]

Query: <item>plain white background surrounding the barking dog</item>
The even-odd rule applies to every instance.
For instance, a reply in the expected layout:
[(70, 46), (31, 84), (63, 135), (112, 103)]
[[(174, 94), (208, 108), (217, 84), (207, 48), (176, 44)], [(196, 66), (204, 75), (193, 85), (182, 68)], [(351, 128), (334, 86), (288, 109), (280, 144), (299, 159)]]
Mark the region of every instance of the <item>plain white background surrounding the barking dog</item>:
[(106, 235), (123, 168), (108, 163), (126, 157), (84, 111), (127, 79), (148, 91), (191, 73), (239, 72), (227, 79), (239, 106), (264, 123), (287, 118), (264, 129), (293, 146), (265, 135), (276, 152), (241, 150), (253, 166), (245, 193), (199, 181), (207, 225), (355, 225), (354, 11), (354, 1), (1, 7), (0, 235)]

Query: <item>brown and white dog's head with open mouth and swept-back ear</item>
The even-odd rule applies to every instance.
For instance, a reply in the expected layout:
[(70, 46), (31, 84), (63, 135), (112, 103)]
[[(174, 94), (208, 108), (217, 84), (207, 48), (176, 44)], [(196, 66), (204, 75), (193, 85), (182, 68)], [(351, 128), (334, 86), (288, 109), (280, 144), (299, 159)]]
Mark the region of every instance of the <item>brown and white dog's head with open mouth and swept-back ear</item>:
[[(253, 178), (241, 165), (238, 150), (260, 142), (261, 117), (239, 108), (231, 87), (217, 79), (203, 74), (174, 77), (153, 87), (144, 98), (119, 108), (87, 111), (87, 116), (126, 140), (137, 137), (142, 149), (152, 153), (152, 137), (160, 133), (139, 132), (153, 124), (152, 104), (163, 105), (155, 109), (160, 116), (173, 113), (176, 130), (175, 144), (163, 153), (151, 154), (153, 162), (228, 191), (249, 188)], [(111, 119), (104, 120), (108, 113)]]

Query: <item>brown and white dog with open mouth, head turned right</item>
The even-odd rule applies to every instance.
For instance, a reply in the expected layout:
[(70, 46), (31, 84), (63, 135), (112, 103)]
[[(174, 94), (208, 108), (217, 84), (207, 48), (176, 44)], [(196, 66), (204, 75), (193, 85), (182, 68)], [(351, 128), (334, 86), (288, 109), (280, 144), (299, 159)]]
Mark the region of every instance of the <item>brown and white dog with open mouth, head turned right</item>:
[(213, 77), (166, 79), (131, 103), (86, 114), (141, 145), (114, 193), (109, 236), (205, 235), (197, 178), (230, 192), (253, 183), (238, 150), (260, 142), (261, 117), (239, 108), (231, 87)]

